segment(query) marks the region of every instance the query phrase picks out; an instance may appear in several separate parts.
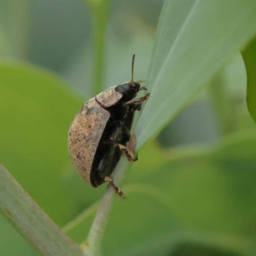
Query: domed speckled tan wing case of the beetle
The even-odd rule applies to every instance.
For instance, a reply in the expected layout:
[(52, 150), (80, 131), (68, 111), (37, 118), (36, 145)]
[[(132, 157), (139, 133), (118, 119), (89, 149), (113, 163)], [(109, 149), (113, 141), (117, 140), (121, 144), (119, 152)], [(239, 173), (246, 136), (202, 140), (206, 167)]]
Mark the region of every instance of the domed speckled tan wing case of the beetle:
[(68, 131), (68, 151), (73, 166), (88, 183), (96, 149), (109, 117), (108, 111), (92, 98), (84, 103)]

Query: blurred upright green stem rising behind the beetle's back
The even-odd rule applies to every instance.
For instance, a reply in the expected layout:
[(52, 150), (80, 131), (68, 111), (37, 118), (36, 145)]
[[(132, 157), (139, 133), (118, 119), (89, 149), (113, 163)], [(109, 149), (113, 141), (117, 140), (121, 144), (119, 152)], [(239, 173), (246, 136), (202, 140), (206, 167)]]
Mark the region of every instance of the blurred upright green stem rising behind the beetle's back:
[(103, 74), (105, 61), (105, 43), (108, 25), (109, 0), (102, 0), (99, 3), (91, 3), (93, 19), (93, 51), (94, 71), (93, 88), (94, 95), (103, 90)]

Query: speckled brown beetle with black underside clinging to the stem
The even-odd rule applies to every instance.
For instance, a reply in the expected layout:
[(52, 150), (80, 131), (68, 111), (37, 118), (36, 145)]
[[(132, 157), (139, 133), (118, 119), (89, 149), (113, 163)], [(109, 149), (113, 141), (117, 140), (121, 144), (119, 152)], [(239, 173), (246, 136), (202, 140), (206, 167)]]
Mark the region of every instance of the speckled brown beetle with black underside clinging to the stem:
[(128, 160), (137, 160), (126, 144), (131, 138), (134, 113), (141, 110), (142, 103), (150, 96), (148, 93), (135, 98), (139, 90), (147, 89), (140, 85), (143, 80), (133, 81), (134, 59), (135, 55), (131, 62), (131, 81), (103, 90), (85, 102), (68, 131), (68, 151), (79, 175), (95, 188), (110, 183), (121, 197), (125, 195), (110, 175), (122, 151)]

